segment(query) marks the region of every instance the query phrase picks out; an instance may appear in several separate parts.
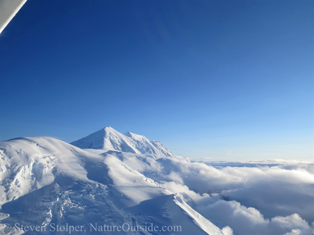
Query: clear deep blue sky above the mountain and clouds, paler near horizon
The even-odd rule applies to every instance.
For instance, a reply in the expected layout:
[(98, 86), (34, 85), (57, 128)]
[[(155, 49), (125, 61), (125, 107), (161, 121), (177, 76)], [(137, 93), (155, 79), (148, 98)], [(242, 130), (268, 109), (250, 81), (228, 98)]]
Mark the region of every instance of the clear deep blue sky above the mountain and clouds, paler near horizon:
[(191, 158), (313, 159), (314, 1), (27, 0), (0, 141), (105, 126)]

